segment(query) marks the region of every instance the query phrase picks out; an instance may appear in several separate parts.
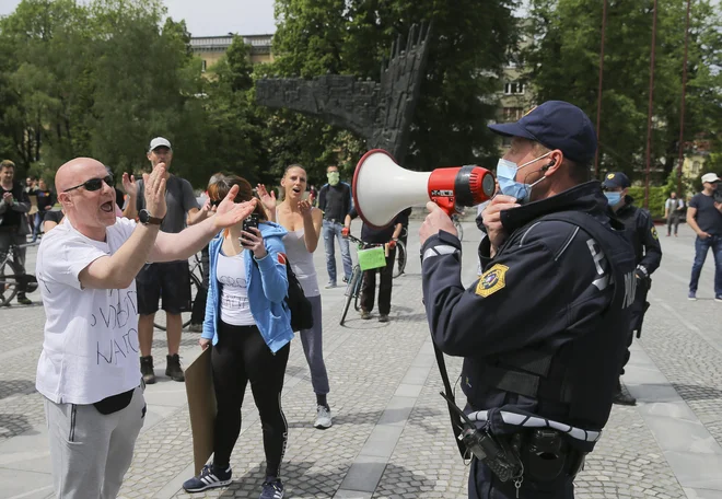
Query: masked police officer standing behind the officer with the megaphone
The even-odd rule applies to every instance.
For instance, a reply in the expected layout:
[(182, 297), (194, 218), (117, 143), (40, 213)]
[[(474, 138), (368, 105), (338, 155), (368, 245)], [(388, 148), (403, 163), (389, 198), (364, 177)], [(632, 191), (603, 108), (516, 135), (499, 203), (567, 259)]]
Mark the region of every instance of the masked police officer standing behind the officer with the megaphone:
[[(629, 187), (631, 183), (627, 175), (621, 172), (609, 173), (604, 179), (604, 195), (609, 201), (609, 206), (614, 210), (617, 218), (629, 230), (632, 244), (634, 246), (634, 258), (637, 262), (637, 270), (634, 277), (637, 280), (637, 297), (634, 304), (631, 307), (631, 325), (629, 328), (629, 338), (627, 340), (627, 351), (621, 365), (621, 374), (625, 373), (625, 365), (629, 361), (629, 346), (632, 343), (634, 332), (639, 338), (642, 333), (642, 322), (644, 321), (644, 312), (649, 309), (650, 304), (647, 301), (647, 293), (652, 283), (652, 272), (656, 270), (662, 262), (662, 247), (660, 246), (660, 239), (656, 234), (656, 229), (652, 222), (652, 217), (649, 211), (636, 207), (634, 199), (629, 196)], [(617, 382), (617, 391), (614, 395), (614, 403), (620, 405), (634, 405), (637, 399), (629, 394), (621, 391), (621, 383)]]

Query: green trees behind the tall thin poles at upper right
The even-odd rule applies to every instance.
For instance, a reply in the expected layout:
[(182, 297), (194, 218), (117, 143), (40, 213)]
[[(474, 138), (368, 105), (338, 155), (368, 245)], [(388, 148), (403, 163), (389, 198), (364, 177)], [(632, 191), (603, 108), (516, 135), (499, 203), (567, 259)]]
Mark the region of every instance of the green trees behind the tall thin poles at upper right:
[[(602, 3), (532, 0), (523, 59), (538, 102), (564, 100), (596, 120)], [(609, 0), (602, 93), (601, 172), (641, 179), (645, 165), (653, 2)], [(685, 140), (719, 129), (722, 116), (720, 16), (708, 0), (694, 2), (690, 23)], [(659, 0), (653, 169), (663, 182), (677, 163), (686, 2)], [(717, 124), (717, 125), (715, 125)]]

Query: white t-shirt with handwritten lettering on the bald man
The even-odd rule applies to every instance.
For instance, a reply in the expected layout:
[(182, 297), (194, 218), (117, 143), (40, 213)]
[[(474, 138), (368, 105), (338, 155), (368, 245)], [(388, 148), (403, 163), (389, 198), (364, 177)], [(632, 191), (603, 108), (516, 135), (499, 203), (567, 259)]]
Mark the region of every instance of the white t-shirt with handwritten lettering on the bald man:
[(45, 339), (35, 387), (56, 404), (94, 404), (140, 384), (136, 281), (126, 289), (81, 289), (79, 274), (112, 255), (136, 222), (118, 218), (106, 241), (85, 237), (66, 218), (37, 252)]

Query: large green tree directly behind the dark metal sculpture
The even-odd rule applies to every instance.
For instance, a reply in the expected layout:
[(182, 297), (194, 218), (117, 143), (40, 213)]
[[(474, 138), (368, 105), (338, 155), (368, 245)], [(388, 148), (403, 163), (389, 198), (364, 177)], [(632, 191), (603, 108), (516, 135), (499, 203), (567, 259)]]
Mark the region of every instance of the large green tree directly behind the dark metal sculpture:
[[(393, 40), (411, 24), (433, 22), (432, 45), (421, 98), (411, 127), (406, 166), (430, 170), (496, 155), (486, 123), (494, 117), (496, 92), (509, 48), (515, 40), (511, 0), (278, 0), (277, 61), (258, 76), (311, 78), (327, 72), (379, 79)], [(312, 118), (276, 113), (279, 128), (270, 151), (278, 169), (284, 158), (306, 156), (310, 174), (364, 146)], [(338, 148), (347, 148), (338, 150)], [(333, 161), (333, 160), (336, 161)], [(357, 158), (358, 160), (358, 158)], [(298, 161), (298, 160), (296, 160)], [(342, 166), (346, 166), (342, 164)]]

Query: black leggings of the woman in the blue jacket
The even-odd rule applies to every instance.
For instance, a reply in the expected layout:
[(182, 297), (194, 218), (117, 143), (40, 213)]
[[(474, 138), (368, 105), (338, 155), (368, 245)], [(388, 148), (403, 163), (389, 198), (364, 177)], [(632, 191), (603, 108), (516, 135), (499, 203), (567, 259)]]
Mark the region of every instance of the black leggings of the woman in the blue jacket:
[(290, 344), (273, 355), (256, 326), (232, 326), (222, 321), (219, 321), (218, 336), (211, 352), (218, 403), (213, 465), (225, 469), (231, 462), (231, 452), (241, 433), (243, 395), (251, 381), (264, 429), (266, 476), (279, 477), (288, 440), (281, 391)]

